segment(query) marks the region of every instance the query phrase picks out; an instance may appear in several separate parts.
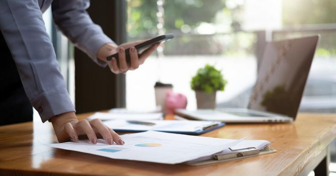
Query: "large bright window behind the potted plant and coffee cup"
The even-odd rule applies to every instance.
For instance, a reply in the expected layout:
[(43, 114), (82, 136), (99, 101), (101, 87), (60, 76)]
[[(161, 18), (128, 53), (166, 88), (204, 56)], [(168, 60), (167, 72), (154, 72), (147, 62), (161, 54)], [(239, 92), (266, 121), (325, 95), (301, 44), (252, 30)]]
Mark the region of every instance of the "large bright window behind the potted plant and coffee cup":
[(221, 69), (228, 80), (225, 91), (217, 93), (218, 104), (253, 85), (257, 36), (241, 30), (242, 5), (242, 1), (221, 0), (128, 1), (129, 41), (153, 37), (162, 31), (174, 33), (175, 38), (164, 43), (164, 55), (153, 55), (137, 70), (127, 73), (127, 108), (154, 109), (153, 86), (159, 80), (172, 83), (174, 92), (187, 96), (187, 108), (195, 109), (191, 77), (207, 63)]

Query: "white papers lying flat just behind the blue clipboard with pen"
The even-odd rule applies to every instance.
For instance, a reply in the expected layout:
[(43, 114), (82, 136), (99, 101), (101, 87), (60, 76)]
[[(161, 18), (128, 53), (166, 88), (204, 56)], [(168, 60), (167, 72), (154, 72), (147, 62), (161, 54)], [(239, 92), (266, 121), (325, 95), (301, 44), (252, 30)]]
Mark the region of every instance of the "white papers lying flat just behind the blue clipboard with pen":
[(88, 117), (88, 120), (99, 118), (101, 120), (161, 120), (163, 119), (162, 113), (100, 113)]

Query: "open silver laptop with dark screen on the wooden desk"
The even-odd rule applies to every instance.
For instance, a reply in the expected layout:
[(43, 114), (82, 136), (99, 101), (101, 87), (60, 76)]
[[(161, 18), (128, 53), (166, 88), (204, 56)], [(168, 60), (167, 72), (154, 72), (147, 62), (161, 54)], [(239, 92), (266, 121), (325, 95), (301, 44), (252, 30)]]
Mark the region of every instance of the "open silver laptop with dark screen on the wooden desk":
[(268, 42), (247, 108), (216, 108), (177, 115), (226, 123), (279, 123), (295, 120), (319, 36)]

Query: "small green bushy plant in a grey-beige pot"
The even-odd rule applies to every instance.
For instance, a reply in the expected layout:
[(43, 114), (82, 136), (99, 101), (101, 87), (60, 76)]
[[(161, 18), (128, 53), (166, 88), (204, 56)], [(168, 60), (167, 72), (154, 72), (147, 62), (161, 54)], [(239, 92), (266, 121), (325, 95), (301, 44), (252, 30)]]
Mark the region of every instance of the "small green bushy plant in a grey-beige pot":
[(216, 107), (216, 92), (224, 91), (227, 81), (221, 70), (212, 65), (199, 68), (190, 82), (191, 89), (196, 93), (198, 109), (214, 109)]

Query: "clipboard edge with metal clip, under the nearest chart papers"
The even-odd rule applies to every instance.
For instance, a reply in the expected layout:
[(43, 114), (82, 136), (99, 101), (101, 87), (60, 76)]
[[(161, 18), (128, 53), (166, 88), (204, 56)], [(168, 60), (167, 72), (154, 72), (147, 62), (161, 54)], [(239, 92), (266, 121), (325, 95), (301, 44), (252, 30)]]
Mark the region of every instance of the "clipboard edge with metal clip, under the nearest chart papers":
[[(229, 148), (230, 149), (230, 148)], [(276, 149), (267, 145), (263, 149), (259, 150), (255, 147), (251, 148), (242, 148), (239, 150), (232, 150), (232, 152), (227, 154), (213, 154), (211, 158), (202, 160), (202, 161), (187, 161), (184, 164), (198, 166), (198, 165), (206, 165), (206, 164), (213, 164), (213, 163), (220, 163), (220, 162), (227, 162), (232, 160), (244, 159), (254, 156), (260, 156), (269, 153), (277, 152)]]

